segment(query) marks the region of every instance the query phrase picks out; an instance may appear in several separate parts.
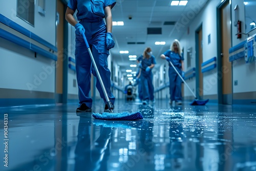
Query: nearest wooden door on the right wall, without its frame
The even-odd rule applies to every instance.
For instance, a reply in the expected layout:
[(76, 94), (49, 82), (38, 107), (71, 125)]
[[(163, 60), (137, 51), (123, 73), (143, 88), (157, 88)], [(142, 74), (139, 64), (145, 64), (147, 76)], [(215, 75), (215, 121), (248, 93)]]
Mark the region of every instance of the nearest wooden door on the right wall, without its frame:
[(222, 103), (232, 104), (232, 68), (229, 62), (231, 48), (231, 15), (230, 4), (227, 1), (221, 8), (221, 73), (222, 73)]

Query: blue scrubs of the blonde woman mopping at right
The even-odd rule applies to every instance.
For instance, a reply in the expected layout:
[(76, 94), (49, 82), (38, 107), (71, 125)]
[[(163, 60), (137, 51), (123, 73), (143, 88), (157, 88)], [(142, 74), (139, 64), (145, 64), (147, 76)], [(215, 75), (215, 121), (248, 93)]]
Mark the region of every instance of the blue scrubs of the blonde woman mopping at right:
[[(170, 58), (170, 61), (175, 66), (176, 70), (179, 72), (180, 75), (182, 75), (182, 69), (181, 69), (181, 60), (184, 60), (183, 56), (180, 56), (178, 53), (175, 53), (171, 50), (167, 50), (163, 53), (165, 56)], [(169, 89), (170, 89), (170, 100), (172, 101), (181, 101), (181, 83), (182, 80), (179, 77), (179, 75), (176, 73), (174, 68), (169, 64)]]

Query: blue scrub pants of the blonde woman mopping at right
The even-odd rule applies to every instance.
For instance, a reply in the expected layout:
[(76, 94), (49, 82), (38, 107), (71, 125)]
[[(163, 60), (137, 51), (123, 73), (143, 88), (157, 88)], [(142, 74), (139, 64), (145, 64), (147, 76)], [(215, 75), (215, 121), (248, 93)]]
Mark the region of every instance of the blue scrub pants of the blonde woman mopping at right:
[[(182, 74), (181, 68), (176, 67), (177, 71), (179, 72), (179, 74)], [(182, 97), (181, 97), (181, 83), (182, 80), (179, 77), (179, 75), (176, 73), (176, 71), (173, 69), (173, 67), (169, 67), (169, 89), (170, 89), (170, 100), (172, 101), (181, 101)]]

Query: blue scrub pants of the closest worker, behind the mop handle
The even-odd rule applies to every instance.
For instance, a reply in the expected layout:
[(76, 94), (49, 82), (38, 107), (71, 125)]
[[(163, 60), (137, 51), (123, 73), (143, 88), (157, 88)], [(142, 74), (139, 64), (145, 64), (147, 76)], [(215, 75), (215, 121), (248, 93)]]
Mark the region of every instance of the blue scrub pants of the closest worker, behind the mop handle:
[[(107, 61), (107, 58), (109, 56), (109, 50), (106, 49), (105, 23), (103, 19), (96, 19), (91, 21), (82, 20), (80, 24), (83, 25), (84, 29), (86, 30), (84, 34), (86, 35), (88, 44), (92, 51), (94, 60), (96, 62), (106, 92), (108, 93), (109, 99), (114, 104), (115, 97), (111, 92), (111, 72), (108, 69)], [(91, 57), (82, 36), (76, 35), (75, 58), (79, 103), (85, 103), (89, 108), (92, 108), (92, 98), (89, 97), (89, 93), (91, 91), (92, 73), (96, 77), (96, 88), (99, 91), (100, 97), (104, 100), (104, 103), (106, 104), (106, 99), (100, 86), (98, 76), (96, 75), (96, 71), (92, 65)]]

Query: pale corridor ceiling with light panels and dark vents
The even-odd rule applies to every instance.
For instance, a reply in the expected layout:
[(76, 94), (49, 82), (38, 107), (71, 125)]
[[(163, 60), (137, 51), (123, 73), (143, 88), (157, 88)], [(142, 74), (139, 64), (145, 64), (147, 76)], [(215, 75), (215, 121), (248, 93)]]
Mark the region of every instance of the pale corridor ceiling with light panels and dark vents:
[[(187, 33), (189, 24), (207, 1), (188, 0), (186, 6), (170, 6), (170, 0), (116, 0), (117, 3), (112, 9), (112, 19), (113, 22), (122, 21), (124, 25), (113, 26), (115, 47), (110, 53), (121, 72), (125, 72), (126, 69), (137, 71), (137, 68), (130, 67), (131, 64), (136, 64), (136, 61), (130, 61), (128, 56), (139, 56), (146, 47), (152, 48), (157, 69), (159, 64), (165, 62), (160, 55), (169, 49), (175, 38), (180, 39)], [(185, 20), (186, 16), (191, 16), (191, 19)], [(160, 28), (161, 34), (148, 34), (158, 31), (153, 29), (148, 32), (148, 28)], [(165, 41), (166, 44), (155, 45), (155, 41)], [(140, 44), (141, 42), (144, 44)], [(129, 51), (129, 54), (120, 54), (119, 51), (122, 50)]]

